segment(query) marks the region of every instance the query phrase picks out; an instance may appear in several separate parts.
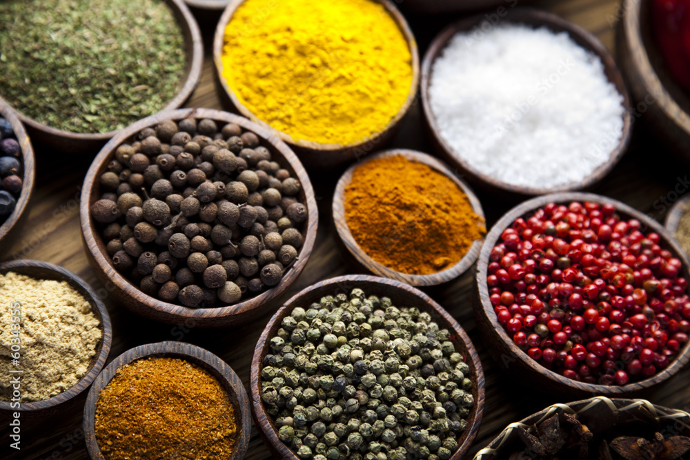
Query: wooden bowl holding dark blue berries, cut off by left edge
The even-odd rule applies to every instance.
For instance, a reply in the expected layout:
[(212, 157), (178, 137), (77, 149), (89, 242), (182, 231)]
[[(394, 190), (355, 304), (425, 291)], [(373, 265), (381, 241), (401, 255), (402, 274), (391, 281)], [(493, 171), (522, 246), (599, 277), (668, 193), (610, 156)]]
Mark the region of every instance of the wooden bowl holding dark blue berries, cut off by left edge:
[(31, 140), (26, 134), (26, 130), (24, 130), (24, 126), (19, 121), (17, 114), (3, 99), (0, 99), (0, 115), (12, 125), (14, 135), (17, 137), (17, 142), (19, 142), (19, 147), (21, 148), (21, 167), (23, 168), (23, 187), (21, 188), (19, 199), (17, 199), (17, 207), (7, 216), (4, 222), (0, 220), (1, 257), (12, 247), (14, 239), (19, 236), (19, 229), (28, 219), (29, 213), (26, 210), (34, 188), (36, 166), (34, 165), (34, 149), (31, 146)]

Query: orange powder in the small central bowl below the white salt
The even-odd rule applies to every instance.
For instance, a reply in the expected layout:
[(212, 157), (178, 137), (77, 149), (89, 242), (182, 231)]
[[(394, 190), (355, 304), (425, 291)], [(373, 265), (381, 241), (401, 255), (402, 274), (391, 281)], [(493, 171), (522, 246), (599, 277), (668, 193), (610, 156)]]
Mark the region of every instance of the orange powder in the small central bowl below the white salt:
[(369, 257), (406, 274), (451, 268), (486, 232), (455, 182), (402, 155), (355, 169), (345, 189), (345, 219)]

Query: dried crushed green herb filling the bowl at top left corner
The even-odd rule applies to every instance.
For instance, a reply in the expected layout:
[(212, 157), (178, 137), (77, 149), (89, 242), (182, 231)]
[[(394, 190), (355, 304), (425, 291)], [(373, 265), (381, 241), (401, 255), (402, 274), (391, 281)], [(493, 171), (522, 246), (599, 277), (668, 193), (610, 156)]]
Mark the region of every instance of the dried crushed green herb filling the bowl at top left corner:
[(28, 117), (108, 132), (166, 106), (184, 34), (160, 0), (0, 1), (0, 95)]

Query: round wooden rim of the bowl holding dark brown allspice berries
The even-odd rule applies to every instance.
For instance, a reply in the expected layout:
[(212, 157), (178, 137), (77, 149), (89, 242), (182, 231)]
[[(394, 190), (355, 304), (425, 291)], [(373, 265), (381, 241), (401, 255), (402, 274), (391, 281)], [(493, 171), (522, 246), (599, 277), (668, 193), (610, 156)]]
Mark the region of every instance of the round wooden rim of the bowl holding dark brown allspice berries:
[[(97, 186), (97, 173), (106, 164), (112, 156), (115, 154), (117, 146), (119, 146), (124, 141), (127, 141), (132, 135), (136, 134), (140, 130), (147, 128), (149, 126), (154, 126), (157, 123), (165, 120), (180, 120), (188, 117), (194, 118), (210, 118), (215, 121), (222, 121), (225, 123), (236, 123), (245, 130), (249, 130), (257, 134), (261, 139), (270, 143), (273, 146), (273, 150), (279, 154), (285, 163), (287, 163), (290, 168), (295, 172), (293, 177), (302, 183), (302, 190), (304, 190), (305, 195), (305, 206), (308, 211), (308, 218), (303, 223), (304, 231), (304, 243), (302, 243), (302, 248), (299, 248), (298, 259), (293, 266), (284, 274), (280, 283), (273, 288), (270, 288), (255, 297), (248, 297), (247, 299), (235, 303), (231, 306), (213, 307), (213, 308), (190, 308), (175, 303), (168, 303), (155, 299), (135, 286), (131, 281), (126, 279), (123, 274), (115, 270), (114, 267), (108, 261), (110, 257), (98, 247), (98, 242), (102, 239), (99, 233), (95, 229), (95, 223), (91, 219), (91, 213), (89, 210), (90, 204), (90, 194), (92, 190)], [(221, 110), (215, 109), (176, 109), (168, 110), (164, 112), (159, 112), (153, 114), (150, 117), (146, 117), (135, 123), (132, 123), (124, 130), (119, 131), (115, 134), (103, 149), (99, 152), (97, 157), (91, 163), (86, 177), (84, 179), (83, 187), (81, 188), (81, 199), (79, 205), (79, 219), (81, 221), (81, 235), (84, 240), (84, 250), (88, 251), (93, 259), (95, 259), (99, 270), (105, 273), (110, 282), (115, 284), (117, 288), (126, 292), (128, 297), (135, 299), (138, 303), (145, 306), (148, 310), (155, 310), (164, 314), (168, 314), (172, 317), (177, 317), (181, 319), (192, 318), (192, 319), (219, 319), (223, 317), (232, 317), (233, 315), (244, 314), (250, 310), (255, 310), (262, 306), (268, 301), (271, 301), (282, 294), (290, 284), (297, 279), (299, 274), (306, 266), (306, 263), (313, 252), (314, 244), (316, 241), (317, 227), (319, 221), (319, 211), (317, 209), (316, 199), (314, 197), (314, 191), (311, 186), (311, 181), (302, 166), (302, 163), (297, 158), (297, 155), (290, 150), (290, 148), (280, 139), (275, 137), (275, 135), (261, 126), (255, 125), (248, 119), (240, 117), (236, 114), (231, 114), (229, 112), (223, 112)]]

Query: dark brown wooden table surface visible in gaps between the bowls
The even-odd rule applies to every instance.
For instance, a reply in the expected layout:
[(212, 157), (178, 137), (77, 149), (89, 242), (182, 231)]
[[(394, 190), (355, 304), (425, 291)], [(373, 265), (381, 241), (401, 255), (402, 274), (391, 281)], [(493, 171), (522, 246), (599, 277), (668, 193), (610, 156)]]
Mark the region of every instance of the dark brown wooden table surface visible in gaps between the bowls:
[[(397, 2), (400, 3), (400, 2)], [(512, 4), (512, 2), (506, 2)], [(521, 3), (522, 4), (522, 3)], [(617, 0), (535, 0), (541, 8), (551, 10), (566, 19), (579, 23), (598, 35), (604, 44), (613, 50), (615, 21), (620, 17), (620, 2)], [(401, 3), (404, 7), (404, 1)], [(210, 57), (210, 43), (213, 39), (215, 21), (218, 15), (201, 14), (199, 25), (204, 33), (206, 61), (201, 83), (189, 107), (222, 108), (217, 97), (215, 68)], [(453, 15), (442, 17), (411, 17), (411, 27), (424, 53), (433, 36)], [(506, 78), (509, 77), (506, 75)], [(419, 104), (404, 121), (400, 134), (393, 146), (415, 148), (424, 152), (431, 150), (430, 143), (422, 130), (422, 114)], [(233, 330), (188, 330), (142, 319), (118, 306), (108, 298), (108, 292), (97, 281), (84, 255), (79, 227), (79, 193), (84, 174), (92, 156), (96, 153), (74, 157), (55, 154), (50, 149), (36, 146), (37, 181), (30, 215), (21, 241), (15, 244), (6, 256), (10, 258), (38, 259), (57, 263), (79, 274), (105, 297), (112, 319), (114, 339), (110, 360), (142, 343), (164, 340), (181, 340), (195, 343), (218, 354), (235, 369), (239, 377), (248, 384), (252, 352), (259, 334), (278, 303), (264, 317), (242, 328), (241, 333)], [(308, 165), (305, 165), (308, 168)], [(659, 139), (647, 132), (644, 115), (635, 123), (631, 148), (608, 177), (592, 191), (604, 194), (662, 220), (673, 200), (687, 188), (687, 174), (690, 167), (663, 151)], [(315, 250), (306, 269), (290, 290), (279, 300), (285, 300), (321, 279), (340, 274), (358, 272), (349, 266), (342, 250), (337, 246), (337, 235), (331, 222), (331, 200), (335, 183), (342, 171), (313, 174), (313, 183), (319, 202), (319, 234)], [(478, 193), (488, 226), (511, 208), (514, 203), (504, 202), (482, 192)], [(484, 337), (480, 335), (471, 308), (472, 272), (467, 272), (454, 283), (443, 288), (427, 290), (436, 301), (455, 317), (469, 333), (480, 352), (486, 374), (486, 406), (484, 421), (471, 453), (486, 446), (508, 423), (517, 421), (555, 402), (566, 402), (566, 397), (542, 394), (540, 388), (530, 388), (510, 378), (510, 368), (494, 361), (487, 352)], [(690, 388), (686, 382), (690, 369), (684, 370), (653, 392), (642, 396), (654, 403), (671, 408), (690, 408)], [(56, 414), (49, 419), (22, 424), (21, 450), (9, 448), (8, 423), (1, 421), (0, 458), (3, 459), (84, 459), (87, 458), (81, 430), (81, 406)], [(264, 443), (253, 430), (247, 459), (268, 459), (270, 454)]]

